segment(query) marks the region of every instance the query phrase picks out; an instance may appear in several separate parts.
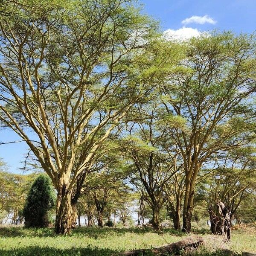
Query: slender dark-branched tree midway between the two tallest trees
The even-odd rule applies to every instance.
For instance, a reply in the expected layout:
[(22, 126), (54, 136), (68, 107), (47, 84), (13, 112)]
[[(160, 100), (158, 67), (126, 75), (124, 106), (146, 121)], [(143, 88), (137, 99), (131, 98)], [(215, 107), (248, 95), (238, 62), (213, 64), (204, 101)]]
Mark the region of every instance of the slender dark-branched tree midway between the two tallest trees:
[[(169, 143), (171, 116), (163, 113), (159, 102), (149, 103), (138, 108), (138, 121), (129, 128), (125, 154), (133, 161), (134, 176), (131, 182), (137, 190), (144, 192), (145, 201), (151, 207), (154, 230), (160, 229), (159, 212), (166, 201), (166, 186), (177, 172), (173, 157), (165, 150)], [(173, 119), (173, 125), (181, 125)]]

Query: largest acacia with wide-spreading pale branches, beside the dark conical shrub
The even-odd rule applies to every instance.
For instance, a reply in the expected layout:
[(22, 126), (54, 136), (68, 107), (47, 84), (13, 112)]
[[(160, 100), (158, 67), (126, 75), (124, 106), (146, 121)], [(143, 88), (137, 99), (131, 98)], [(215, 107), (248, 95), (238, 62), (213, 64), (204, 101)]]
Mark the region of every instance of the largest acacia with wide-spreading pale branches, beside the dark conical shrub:
[(151, 90), (155, 72), (145, 62), (146, 47), (156, 27), (130, 0), (5, 4), (0, 120), (51, 178), (58, 192), (55, 232), (68, 233), (74, 194), (76, 202), (97, 151)]

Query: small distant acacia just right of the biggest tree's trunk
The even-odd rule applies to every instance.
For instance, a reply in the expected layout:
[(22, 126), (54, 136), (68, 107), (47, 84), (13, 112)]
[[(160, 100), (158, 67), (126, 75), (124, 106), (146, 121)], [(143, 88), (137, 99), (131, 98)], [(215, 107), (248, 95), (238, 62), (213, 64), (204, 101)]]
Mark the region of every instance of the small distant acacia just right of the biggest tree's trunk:
[[(111, 143), (110, 140), (113, 140), (112, 136), (108, 138), (108, 145)], [(100, 157), (86, 175), (87, 179), (82, 184), (79, 194), (83, 196), (90, 193), (93, 196), (98, 213), (98, 226), (103, 227), (104, 214), (107, 213), (108, 220), (111, 218), (116, 203), (116, 194), (120, 195), (122, 190), (127, 189), (124, 180), (128, 172), (124, 168), (118, 152), (112, 149)]]

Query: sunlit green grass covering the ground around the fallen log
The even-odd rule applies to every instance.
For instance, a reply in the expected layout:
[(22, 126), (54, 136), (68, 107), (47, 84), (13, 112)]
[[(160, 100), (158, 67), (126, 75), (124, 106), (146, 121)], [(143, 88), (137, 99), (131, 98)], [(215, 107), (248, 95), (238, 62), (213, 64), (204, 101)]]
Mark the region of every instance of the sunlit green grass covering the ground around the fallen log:
[[(56, 236), (52, 229), (0, 228), (0, 256), (110, 256), (125, 250), (157, 247), (179, 241), (184, 233), (165, 229), (163, 234), (147, 229), (81, 227), (68, 236)], [(211, 235), (203, 234), (207, 246), (196, 255), (226, 255), (216, 250)], [(236, 231), (227, 247), (241, 254), (256, 251), (256, 234)]]

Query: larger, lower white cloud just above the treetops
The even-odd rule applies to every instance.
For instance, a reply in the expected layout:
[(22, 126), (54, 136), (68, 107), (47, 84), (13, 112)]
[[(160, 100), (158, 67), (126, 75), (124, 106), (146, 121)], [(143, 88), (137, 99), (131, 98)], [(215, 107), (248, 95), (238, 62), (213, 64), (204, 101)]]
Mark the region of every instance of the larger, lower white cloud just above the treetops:
[(201, 35), (201, 32), (198, 29), (193, 28), (186, 28), (183, 27), (181, 29), (167, 29), (163, 32), (164, 38), (171, 40), (171, 39), (177, 39), (177, 40), (186, 40), (192, 37), (198, 37)]

